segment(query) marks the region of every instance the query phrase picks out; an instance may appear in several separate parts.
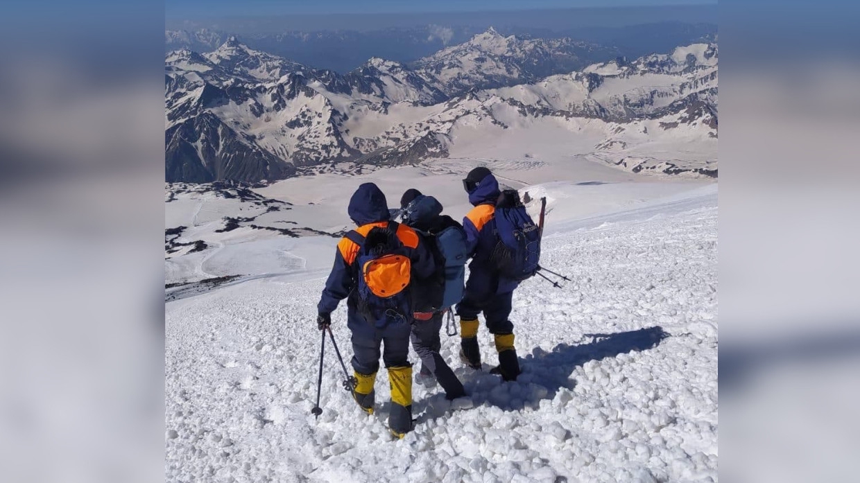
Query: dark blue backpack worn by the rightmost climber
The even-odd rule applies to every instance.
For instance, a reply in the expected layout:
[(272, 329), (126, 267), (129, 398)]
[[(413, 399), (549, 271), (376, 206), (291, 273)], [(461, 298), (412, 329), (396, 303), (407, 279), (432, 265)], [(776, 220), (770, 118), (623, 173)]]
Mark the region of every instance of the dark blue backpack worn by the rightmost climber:
[(519, 201), (519, 193), (515, 190), (501, 193), (493, 223), (497, 241), (490, 260), (501, 276), (522, 281), (537, 273), (540, 229)]

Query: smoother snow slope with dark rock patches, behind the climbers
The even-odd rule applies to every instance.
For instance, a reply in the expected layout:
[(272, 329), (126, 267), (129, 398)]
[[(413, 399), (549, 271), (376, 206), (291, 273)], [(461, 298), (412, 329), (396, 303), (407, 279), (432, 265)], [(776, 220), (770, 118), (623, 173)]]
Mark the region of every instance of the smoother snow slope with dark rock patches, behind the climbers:
[[(462, 219), (470, 205), (461, 180), (470, 169), (483, 165), (507, 186), (521, 189), (524, 194), (530, 191), (532, 198), (547, 196), (548, 209), (556, 223), (569, 217), (627, 209), (710, 184), (707, 180), (655, 180), (624, 173), (589, 161), (587, 156), (567, 156), (552, 144), (536, 147), (532, 153), (537, 157), (516, 158), (513, 155), (522, 152), (522, 146), (514, 151), (518, 138), (506, 139), (513, 139), (513, 144), (500, 141), (494, 150), (484, 153), (487, 157), (433, 159), (416, 166), (379, 168), (365, 174), (344, 174), (335, 169), (255, 187), (250, 192), (242, 191), (243, 196), (238, 196), (237, 188), (212, 191), (209, 185), (169, 185), (171, 200), (165, 204), (165, 228), (184, 229), (175, 238), (169, 237), (181, 245), (166, 254), (165, 281), (181, 284), (224, 276), (257, 278), (324, 272), (331, 267), (329, 250), (337, 242), (337, 238), (326, 234), (352, 228), (347, 200), (366, 181), (377, 183), (392, 207), (408, 187), (418, 187), (439, 199), (445, 214)], [(462, 152), (480, 152), (479, 144), (469, 146), (464, 144)], [(494, 154), (509, 157), (490, 157)], [(555, 181), (547, 184), (547, 180)], [(228, 195), (230, 198), (224, 198)], [(237, 228), (224, 231), (231, 219), (239, 220)], [(284, 229), (302, 238), (290, 238), (291, 234), (278, 231)], [(206, 248), (191, 252), (198, 241)]]

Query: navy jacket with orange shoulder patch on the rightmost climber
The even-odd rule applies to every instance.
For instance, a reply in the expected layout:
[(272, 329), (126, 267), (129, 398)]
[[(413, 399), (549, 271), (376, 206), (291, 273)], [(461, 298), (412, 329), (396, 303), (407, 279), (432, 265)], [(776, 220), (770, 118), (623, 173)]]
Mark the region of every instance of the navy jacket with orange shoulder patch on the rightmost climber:
[(492, 174), (484, 177), (475, 191), (469, 193), (469, 202), (475, 207), (463, 218), (466, 241), (472, 256), (469, 283), (466, 284), (466, 290), (470, 292), (468, 297), (488, 298), (494, 294), (513, 291), (519, 285), (515, 280), (501, 278), (489, 261), (497, 241), (493, 217), (495, 203), (500, 195), (499, 181)]

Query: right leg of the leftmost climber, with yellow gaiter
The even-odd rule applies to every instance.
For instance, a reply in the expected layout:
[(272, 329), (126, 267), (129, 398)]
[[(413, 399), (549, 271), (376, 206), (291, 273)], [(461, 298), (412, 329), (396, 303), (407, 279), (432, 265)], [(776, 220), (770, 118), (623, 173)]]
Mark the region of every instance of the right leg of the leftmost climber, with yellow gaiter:
[(391, 385), (388, 426), (396, 437), (412, 431), (412, 364), (409, 364), (408, 322), (390, 323), (382, 329), (383, 362)]

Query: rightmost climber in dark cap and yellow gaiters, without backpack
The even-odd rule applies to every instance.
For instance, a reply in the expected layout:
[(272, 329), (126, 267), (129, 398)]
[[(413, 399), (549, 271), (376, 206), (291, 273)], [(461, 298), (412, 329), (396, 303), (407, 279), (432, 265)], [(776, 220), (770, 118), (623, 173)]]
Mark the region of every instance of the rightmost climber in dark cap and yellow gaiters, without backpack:
[(463, 186), (474, 208), (463, 220), (472, 261), (466, 293), (457, 306), (457, 315), (460, 317), (460, 358), (471, 368), (481, 369), (477, 333), (478, 314), (483, 312), (499, 353), (499, 366), (493, 372), (501, 374), (506, 381), (513, 381), (519, 376), (519, 359), (513, 346), (513, 323), (507, 318), (511, 315), (513, 290), (519, 282), (501, 277), (490, 260), (498, 241), (494, 234), (493, 218), (496, 202), (501, 195), (499, 182), (488, 168), (479, 167), (470, 171), (463, 180)]

